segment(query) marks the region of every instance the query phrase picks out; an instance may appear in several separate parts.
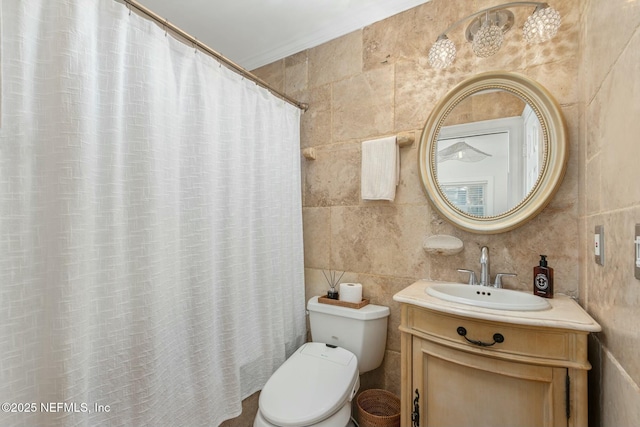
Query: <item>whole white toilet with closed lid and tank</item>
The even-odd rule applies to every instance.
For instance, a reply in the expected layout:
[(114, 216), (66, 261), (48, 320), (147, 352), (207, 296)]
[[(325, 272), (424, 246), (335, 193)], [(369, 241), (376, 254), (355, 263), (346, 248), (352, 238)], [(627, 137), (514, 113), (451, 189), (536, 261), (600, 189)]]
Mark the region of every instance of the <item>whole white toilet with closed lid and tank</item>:
[(347, 427), (360, 374), (382, 363), (389, 307), (307, 303), (311, 338), (273, 373), (253, 427)]

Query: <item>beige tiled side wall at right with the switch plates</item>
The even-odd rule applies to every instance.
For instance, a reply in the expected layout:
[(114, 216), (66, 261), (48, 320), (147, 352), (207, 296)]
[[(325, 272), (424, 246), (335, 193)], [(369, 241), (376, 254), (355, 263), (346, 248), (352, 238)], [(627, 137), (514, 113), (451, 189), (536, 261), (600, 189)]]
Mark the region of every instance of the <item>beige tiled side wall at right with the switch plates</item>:
[[(590, 341), (590, 420), (640, 425), (640, 1), (589, 1), (581, 44), (580, 300), (603, 328)], [(596, 225), (604, 226), (604, 266), (594, 262)]]

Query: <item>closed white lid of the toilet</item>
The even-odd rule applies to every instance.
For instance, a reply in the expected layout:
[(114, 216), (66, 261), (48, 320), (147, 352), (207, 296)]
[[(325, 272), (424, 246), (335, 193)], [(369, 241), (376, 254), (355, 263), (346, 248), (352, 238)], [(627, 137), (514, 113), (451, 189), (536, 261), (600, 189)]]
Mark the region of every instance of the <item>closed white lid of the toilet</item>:
[(348, 350), (307, 343), (269, 378), (260, 412), (271, 423), (307, 426), (340, 409), (358, 379), (358, 360)]

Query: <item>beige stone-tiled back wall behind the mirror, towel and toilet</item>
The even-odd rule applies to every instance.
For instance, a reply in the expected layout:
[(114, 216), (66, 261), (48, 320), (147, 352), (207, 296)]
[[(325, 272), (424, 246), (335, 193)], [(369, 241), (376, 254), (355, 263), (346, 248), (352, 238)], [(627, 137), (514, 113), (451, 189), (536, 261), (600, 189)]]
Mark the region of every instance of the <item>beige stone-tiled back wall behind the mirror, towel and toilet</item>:
[[(459, 46), (451, 69), (432, 69), (426, 55), (438, 33), (490, 1), (433, 0), (313, 49), (256, 70), (287, 94), (308, 102), (302, 117), (301, 148), (317, 158), (303, 160), (303, 218), (308, 296), (326, 292), (322, 270), (346, 271), (344, 280), (363, 284), (365, 296), (391, 307), (384, 365), (368, 376), (371, 386), (399, 393), (399, 306), (393, 295), (416, 279), (463, 279), (458, 268), (479, 269), (480, 247), (490, 248), (493, 272), (518, 274), (506, 280), (531, 288), (538, 255), (548, 255), (558, 291), (578, 291), (578, 162), (572, 157), (564, 183), (550, 206), (526, 226), (499, 235), (457, 230), (429, 205), (417, 168), (417, 143), (401, 150), (401, 179), (394, 202), (360, 198), (360, 147), (363, 140), (400, 132), (419, 139), (436, 101), (453, 86), (479, 72), (508, 70), (546, 86), (561, 104), (578, 144), (578, 68), (580, 2), (557, 7), (562, 37), (542, 47), (522, 43), (508, 33), (502, 50), (490, 59), (475, 58), (464, 27), (450, 38)], [(518, 22), (530, 13), (514, 9)], [(452, 234), (465, 243), (455, 256), (427, 255), (422, 240)]]

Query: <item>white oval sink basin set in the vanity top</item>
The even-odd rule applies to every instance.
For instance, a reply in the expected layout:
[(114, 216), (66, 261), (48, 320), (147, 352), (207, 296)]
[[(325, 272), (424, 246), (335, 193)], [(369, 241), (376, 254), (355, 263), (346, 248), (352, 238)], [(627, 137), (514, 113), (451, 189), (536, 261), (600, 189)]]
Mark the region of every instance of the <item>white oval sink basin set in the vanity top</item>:
[(551, 307), (549, 301), (537, 295), (489, 286), (434, 283), (425, 291), (444, 301), (494, 310), (540, 311)]

